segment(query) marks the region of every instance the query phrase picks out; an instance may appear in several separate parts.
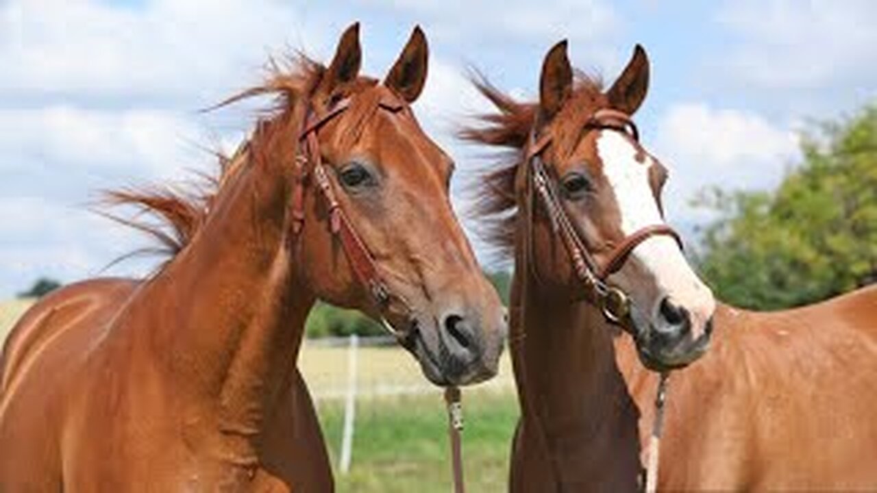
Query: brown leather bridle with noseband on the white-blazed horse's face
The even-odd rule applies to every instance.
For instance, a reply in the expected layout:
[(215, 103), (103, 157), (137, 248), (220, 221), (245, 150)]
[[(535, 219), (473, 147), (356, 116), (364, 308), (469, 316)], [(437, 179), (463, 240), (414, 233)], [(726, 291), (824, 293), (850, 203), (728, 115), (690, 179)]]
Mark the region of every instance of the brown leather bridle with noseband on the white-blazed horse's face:
[[(638, 141), (639, 139), (637, 126), (634, 125), (631, 118), (617, 110), (596, 111), (582, 129), (582, 136), (595, 129), (624, 132), (634, 140)], [(575, 275), (583, 286), (585, 299), (597, 306), (603, 317), (611, 324), (620, 326), (625, 332), (630, 332), (636, 337), (638, 334), (630, 319), (631, 299), (624, 290), (607, 282), (607, 278), (622, 268), (633, 249), (646, 239), (652, 238), (652, 236), (669, 236), (680, 247), (682, 247), (682, 240), (669, 225), (648, 225), (619, 241), (610, 252), (609, 260), (601, 265), (588, 251), (588, 248), (584, 247), (581, 236), (576, 232), (573, 222), (560, 203), (560, 195), (548, 175), (541, 157), (549, 144), (551, 144), (549, 135), (536, 139), (535, 131), (531, 133), (530, 143), (524, 151), (524, 162), (528, 164), (527, 171), (530, 174), (529, 182), (531, 182), (532, 188), (536, 189), (541, 204), (551, 220), (554, 234), (560, 236), (563, 246), (567, 249), (567, 254), (573, 262)], [(532, 199), (530, 200), (532, 206)]]

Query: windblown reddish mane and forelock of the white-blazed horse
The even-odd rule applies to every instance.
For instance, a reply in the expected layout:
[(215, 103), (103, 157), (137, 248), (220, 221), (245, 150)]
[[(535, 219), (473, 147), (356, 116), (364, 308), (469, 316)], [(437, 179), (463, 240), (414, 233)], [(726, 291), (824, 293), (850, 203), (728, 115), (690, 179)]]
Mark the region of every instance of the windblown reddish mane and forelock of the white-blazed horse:
[[(492, 163), (476, 173), (471, 189), (474, 198), (471, 213), (481, 224), (479, 236), (499, 254), (509, 257), (514, 252), (517, 229), (515, 176), (517, 168), (524, 164), (524, 146), (537, 121), (539, 106), (537, 102), (516, 101), (481, 75), (475, 75), (472, 82), (497, 111), (475, 115), (476, 123), (463, 126), (458, 135), (460, 139), (502, 149), (496, 152)], [(576, 145), (577, 129), (581, 129), (589, 118), (588, 111), (584, 110), (592, 108), (593, 102), (601, 95), (599, 78), (576, 71), (573, 93), (563, 110), (562, 146)]]

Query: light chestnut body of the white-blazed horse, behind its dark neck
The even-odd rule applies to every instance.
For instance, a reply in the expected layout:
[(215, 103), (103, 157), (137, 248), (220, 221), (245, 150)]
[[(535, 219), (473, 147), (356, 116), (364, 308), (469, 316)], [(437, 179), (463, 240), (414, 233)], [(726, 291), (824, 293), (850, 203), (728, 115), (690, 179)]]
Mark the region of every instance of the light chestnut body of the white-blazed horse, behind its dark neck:
[[(877, 486), (874, 307), (877, 287), (789, 311), (721, 307), (709, 352), (671, 376), (660, 488)], [(623, 373), (640, 374), (629, 388), (651, 415), (657, 377), (625, 346)]]

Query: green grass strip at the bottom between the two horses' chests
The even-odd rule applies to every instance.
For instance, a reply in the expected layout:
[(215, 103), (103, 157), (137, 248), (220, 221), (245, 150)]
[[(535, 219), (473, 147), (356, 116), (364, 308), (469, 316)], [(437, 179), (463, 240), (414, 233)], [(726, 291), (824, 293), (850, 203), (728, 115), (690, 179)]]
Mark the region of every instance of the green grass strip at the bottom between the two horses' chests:
[[(517, 399), (512, 393), (487, 392), (464, 394), (463, 399), (467, 491), (504, 491)], [(335, 473), (339, 493), (446, 493), (451, 489), (447, 419), (440, 396), (368, 399), (357, 405), (350, 474)], [(334, 467), (341, 442), (343, 403), (322, 403), (319, 416)]]

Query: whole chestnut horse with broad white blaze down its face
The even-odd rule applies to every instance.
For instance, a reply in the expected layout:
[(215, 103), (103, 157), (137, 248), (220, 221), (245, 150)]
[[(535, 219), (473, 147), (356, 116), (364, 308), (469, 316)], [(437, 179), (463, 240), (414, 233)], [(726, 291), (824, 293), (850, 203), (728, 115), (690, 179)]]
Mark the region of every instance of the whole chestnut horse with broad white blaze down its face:
[[(516, 266), (511, 490), (642, 488), (659, 379), (644, 365), (695, 360), (670, 376), (659, 489), (877, 489), (877, 289), (771, 313), (717, 305), (664, 222), (667, 170), (631, 120), (645, 51), (606, 91), (566, 52), (545, 57), (535, 104), (476, 81), (498, 111), (461, 134), (509, 158), (478, 211)], [(629, 311), (606, 304), (617, 289)]]

